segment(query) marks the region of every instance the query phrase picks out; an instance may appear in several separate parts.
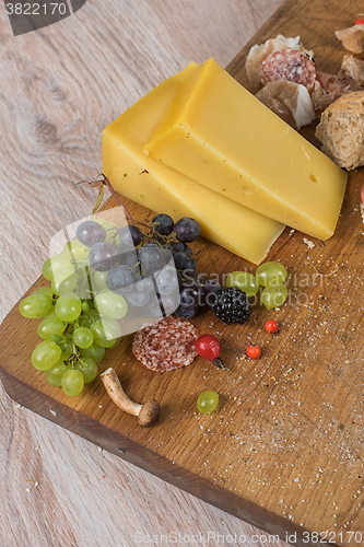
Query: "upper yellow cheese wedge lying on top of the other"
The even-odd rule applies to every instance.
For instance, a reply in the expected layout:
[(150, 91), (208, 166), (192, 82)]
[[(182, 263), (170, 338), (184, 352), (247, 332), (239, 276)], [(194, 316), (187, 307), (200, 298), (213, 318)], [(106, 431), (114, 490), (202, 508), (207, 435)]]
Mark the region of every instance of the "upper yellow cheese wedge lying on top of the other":
[(334, 231), (347, 173), (213, 59), (184, 82), (144, 153), (314, 237)]

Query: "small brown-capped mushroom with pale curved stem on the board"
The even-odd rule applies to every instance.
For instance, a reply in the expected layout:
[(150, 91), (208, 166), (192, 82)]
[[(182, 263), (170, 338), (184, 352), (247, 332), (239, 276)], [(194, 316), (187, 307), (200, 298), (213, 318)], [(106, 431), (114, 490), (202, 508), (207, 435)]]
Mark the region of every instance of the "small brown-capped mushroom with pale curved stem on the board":
[(139, 424), (142, 427), (152, 426), (161, 412), (160, 404), (155, 399), (148, 400), (144, 405), (133, 403), (121, 387), (118, 375), (110, 366), (101, 374), (101, 379), (110, 399), (125, 412), (138, 416)]

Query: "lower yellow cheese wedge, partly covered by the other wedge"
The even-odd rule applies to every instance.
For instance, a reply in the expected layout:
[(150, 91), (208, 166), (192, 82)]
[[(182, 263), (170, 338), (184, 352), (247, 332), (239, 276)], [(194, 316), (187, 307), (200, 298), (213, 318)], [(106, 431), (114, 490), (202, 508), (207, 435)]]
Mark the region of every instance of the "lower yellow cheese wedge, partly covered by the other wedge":
[(209, 190), (142, 153), (184, 80), (197, 67), (162, 82), (103, 132), (103, 172), (121, 195), (176, 221), (193, 217), (201, 235), (259, 264), (284, 225)]

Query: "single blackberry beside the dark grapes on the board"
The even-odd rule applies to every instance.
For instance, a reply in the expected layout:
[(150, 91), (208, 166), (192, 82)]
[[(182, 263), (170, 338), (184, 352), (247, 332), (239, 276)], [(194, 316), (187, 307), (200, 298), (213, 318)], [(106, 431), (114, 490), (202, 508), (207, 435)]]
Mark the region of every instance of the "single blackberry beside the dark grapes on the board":
[(248, 296), (237, 287), (222, 289), (213, 305), (216, 317), (223, 323), (245, 323), (250, 317), (251, 304)]

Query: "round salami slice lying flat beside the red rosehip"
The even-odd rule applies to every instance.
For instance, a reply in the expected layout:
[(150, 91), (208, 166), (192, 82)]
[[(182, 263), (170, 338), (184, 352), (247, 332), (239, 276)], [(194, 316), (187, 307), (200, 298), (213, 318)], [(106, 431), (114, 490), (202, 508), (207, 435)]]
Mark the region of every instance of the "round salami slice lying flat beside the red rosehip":
[(197, 328), (187, 319), (169, 315), (136, 334), (132, 351), (139, 361), (155, 372), (191, 364), (197, 352)]

